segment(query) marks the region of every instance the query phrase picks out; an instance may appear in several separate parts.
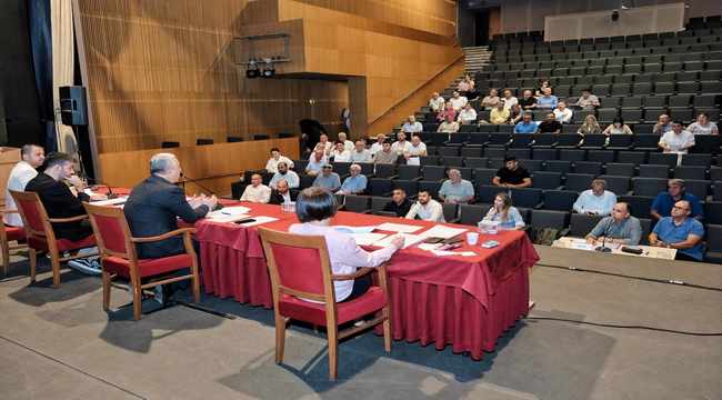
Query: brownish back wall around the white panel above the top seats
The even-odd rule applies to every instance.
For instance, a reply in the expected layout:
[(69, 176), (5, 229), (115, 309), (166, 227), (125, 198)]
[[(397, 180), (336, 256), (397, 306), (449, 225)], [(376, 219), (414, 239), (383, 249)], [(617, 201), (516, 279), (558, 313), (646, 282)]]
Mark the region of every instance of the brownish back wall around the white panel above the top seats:
[[(680, 2), (680, 0), (624, 0), (634, 7)], [(720, 0), (688, 0), (685, 18), (722, 14)], [(544, 17), (572, 12), (613, 10), (620, 0), (518, 0), (502, 2), (501, 33), (527, 32), (544, 29)]]

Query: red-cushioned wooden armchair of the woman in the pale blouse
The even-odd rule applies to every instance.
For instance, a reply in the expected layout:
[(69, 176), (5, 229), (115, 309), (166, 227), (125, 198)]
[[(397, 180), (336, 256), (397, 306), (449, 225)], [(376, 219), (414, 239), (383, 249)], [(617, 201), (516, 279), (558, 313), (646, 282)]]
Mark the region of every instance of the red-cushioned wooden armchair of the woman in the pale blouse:
[[(331, 272), (331, 260), (323, 237), (298, 236), (259, 228), (268, 260), (275, 317), (275, 362), (283, 361), (285, 326), (291, 319), (327, 327), (329, 339), (329, 377), (335, 380), (339, 340), (383, 323), (383, 347), (391, 351), (391, 322), (387, 270), (361, 268), (353, 274)], [(373, 271), (379, 286), (347, 302), (335, 302), (333, 281), (353, 280)], [(318, 302), (310, 302), (309, 299)], [(361, 327), (339, 331), (342, 323), (375, 313)]]

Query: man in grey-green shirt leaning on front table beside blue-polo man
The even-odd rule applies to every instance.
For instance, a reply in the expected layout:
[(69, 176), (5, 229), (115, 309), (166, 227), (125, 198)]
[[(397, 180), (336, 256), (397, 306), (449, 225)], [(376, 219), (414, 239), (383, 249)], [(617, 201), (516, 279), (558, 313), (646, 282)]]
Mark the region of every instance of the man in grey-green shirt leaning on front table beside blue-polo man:
[(586, 242), (636, 246), (642, 238), (640, 220), (631, 216), (629, 203), (618, 202), (611, 216), (602, 218), (586, 236)]

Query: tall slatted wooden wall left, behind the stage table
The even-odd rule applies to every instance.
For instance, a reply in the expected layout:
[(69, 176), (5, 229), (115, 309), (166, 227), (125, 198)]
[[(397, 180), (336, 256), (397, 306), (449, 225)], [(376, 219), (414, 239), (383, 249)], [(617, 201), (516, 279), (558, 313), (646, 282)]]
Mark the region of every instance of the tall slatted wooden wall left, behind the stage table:
[(98, 151), (298, 132), (307, 117), (338, 123), (348, 107), (345, 82), (239, 76), (231, 39), (244, 20), (277, 13), (273, 7), (248, 7), (247, 13), (248, 4), (80, 0)]

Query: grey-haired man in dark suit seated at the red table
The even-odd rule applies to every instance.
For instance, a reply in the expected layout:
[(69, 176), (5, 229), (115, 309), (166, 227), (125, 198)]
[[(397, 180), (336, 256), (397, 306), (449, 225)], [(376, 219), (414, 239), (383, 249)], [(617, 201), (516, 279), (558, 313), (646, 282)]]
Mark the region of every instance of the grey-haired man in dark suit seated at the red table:
[[(147, 238), (178, 229), (178, 218), (193, 223), (212, 211), (218, 199), (194, 197), (190, 201), (176, 183), (181, 167), (176, 156), (158, 153), (150, 159), (150, 177), (138, 183), (123, 206), (123, 213), (134, 238)], [(153, 259), (185, 252), (183, 237), (136, 244), (138, 258)]]

